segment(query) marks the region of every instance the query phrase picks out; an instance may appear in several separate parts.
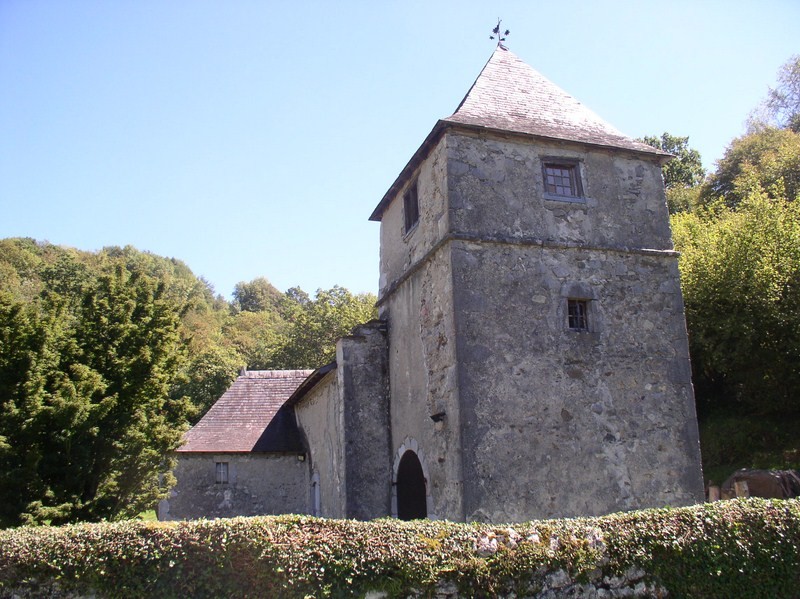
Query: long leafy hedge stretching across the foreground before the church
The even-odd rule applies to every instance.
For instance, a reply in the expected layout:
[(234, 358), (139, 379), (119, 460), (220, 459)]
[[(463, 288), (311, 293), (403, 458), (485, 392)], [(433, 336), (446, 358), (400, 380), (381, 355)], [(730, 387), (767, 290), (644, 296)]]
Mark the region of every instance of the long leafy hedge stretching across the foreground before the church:
[(0, 531), (3, 597), (530, 596), (553, 573), (602, 585), (631, 569), (670, 597), (800, 597), (800, 501), (512, 526), (276, 516)]

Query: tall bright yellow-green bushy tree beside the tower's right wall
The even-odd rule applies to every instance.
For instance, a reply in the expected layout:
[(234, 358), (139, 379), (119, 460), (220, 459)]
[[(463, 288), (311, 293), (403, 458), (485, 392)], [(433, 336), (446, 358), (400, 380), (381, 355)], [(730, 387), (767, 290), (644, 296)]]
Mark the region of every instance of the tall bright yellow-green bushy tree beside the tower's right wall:
[(754, 192), (714, 208), (672, 218), (699, 405), (797, 413), (800, 204)]

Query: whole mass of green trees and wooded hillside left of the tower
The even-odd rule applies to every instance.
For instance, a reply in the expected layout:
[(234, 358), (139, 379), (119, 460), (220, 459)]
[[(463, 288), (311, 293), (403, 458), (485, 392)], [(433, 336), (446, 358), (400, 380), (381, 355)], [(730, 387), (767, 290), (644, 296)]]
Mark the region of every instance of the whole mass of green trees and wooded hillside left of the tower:
[(215, 296), (181, 261), (0, 240), (0, 526), (118, 519), (242, 366), (317, 367), (374, 296), (266, 279)]

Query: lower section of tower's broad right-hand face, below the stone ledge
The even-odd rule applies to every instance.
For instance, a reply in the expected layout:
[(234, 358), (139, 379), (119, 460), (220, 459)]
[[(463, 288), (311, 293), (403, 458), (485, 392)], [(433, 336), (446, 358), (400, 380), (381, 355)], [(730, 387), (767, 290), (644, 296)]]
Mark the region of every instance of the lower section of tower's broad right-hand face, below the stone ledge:
[[(702, 500), (674, 258), (465, 243), (453, 256), (468, 520)], [(573, 294), (594, 298), (589, 331), (567, 326)]]

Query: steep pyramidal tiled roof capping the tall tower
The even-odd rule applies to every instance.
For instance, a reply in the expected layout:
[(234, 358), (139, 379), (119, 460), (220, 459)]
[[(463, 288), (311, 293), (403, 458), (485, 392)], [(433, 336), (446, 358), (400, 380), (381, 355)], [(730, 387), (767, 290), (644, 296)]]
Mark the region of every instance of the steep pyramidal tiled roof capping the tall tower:
[(441, 119), (370, 216), (383, 211), (449, 127), (468, 127), (620, 148), (666, 158), (668, 153), (617, 131), (578, 100), (498, 46), (456, 111)]

